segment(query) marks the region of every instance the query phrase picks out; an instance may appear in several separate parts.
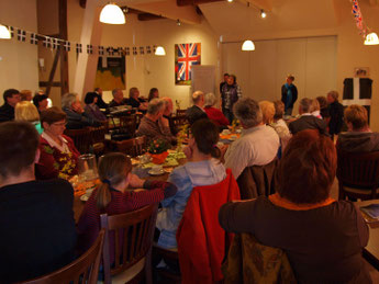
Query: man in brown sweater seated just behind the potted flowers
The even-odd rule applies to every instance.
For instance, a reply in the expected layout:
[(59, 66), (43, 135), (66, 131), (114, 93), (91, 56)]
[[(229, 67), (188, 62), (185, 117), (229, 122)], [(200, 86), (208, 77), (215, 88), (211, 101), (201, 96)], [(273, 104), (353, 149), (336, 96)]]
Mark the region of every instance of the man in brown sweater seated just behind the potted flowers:
[(147, 143), (153, 139), (164, 139), (168, 144), (176, 144), (176, 137), (169, 130), (169, 127), (161, 125), (158, 121), (164, 114), (165, 103), (160, 99), (154, 99), (148, 103), (147, 113), (142, 117), (136, 136), (145, 135)]

